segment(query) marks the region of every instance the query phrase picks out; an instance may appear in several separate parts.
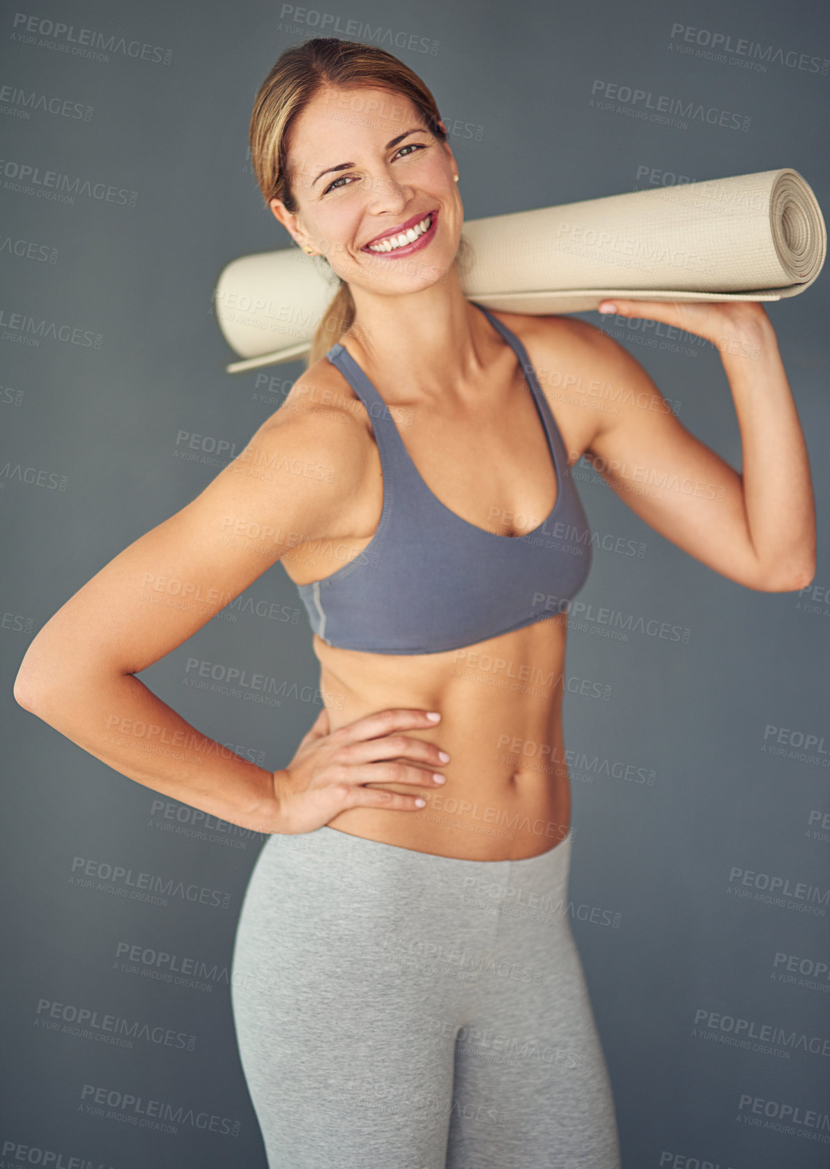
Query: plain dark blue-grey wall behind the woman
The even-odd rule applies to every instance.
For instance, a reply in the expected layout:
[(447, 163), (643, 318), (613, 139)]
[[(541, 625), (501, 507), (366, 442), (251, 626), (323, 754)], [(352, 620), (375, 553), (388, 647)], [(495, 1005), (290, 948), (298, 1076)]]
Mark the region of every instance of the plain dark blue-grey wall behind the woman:
[[(830, 75), (774, 63), (751, 72), (668, 49), (677, 21), (824, 60), (830, 14), (817, 2), (784, 12), (773, 0), (332, 0), (325, 12), (344, 30), (348, 20), (368, 21), (375, 37), (380, 29), (402, 42), (409, 34), (437, 42), (435, 51), (415, 51), (381, 41), (455, 119), (450, 140), (470, 219), (646, 186), (639, 167), (703, 180), (791, 166), (830, 208)], [(198, 817), (159, 797), (170, 805), (166, 818), (155, 793), (19, 707), (12, 683), (51, 614), (216, 473), (221, 462), (179, 457), (179, 431), (241, 449), (302, 369), (272, 367), (265, 381), (256, 372), (227, 374), (234, 354), (210, 313), (224, 264), (289, 242), (262, 208), (247, 125), (272, 62), (286, 46), (319, 35), (319, 26), (313, 15), (289, 26), (279, 13), (264, 2), (194, 0), (36, 8), (42, 20), (158, 47), (168, 63), (117, 48), (106, 61), (72, 56), (37, 35), (34, 43), (15, 40), (13, 6), (0, 20), (4, 84), (92, 108), (90, 120), (37, 110), (22, 119), (4, 91), (5, 164), (138, 192), (133, 207), (88, 195), (61, 205), (14, 191), (0, 175), (4, 313), (103, 336), (99, 348), (49, 339), (28, 347), (9, 339), (8, 317), (0, 321), (4, 1164), (18, 1163), (13, 1150), (22, 1144), (113, 1169), (264, 1165), (222, 980), (262, 838), (227, 825), (203, 836), (165, 832), (195, 830)], [(369, 39), (354, 28), (351, 39)], [(749, 116), (751, 126), (677, 129), (601, 111), (589, 106), (595, 79), (696, 98)], [(30, 255), (15, 254), (19, 241)], [(807, 435), (819, 528), (830, 490), (828, 309), (826, 271), (805, 295), (768, 309)], [(643, 344), (653, 333), (639, 327), (607, 327), (679, 402), (684, 424), (739, 469), (734, 408), (712, 347), (700, 343), (689, 355)], [(15, 478), (15, 468), (44, 472), (43, 485)], [(565, 719), (577, 756), (574, 906), (609, 911), (602, 920), (616, 922), (576, 914), (573, 928), (608, 1056), (624, 1164), (657, 1169), (697, 1157), (733, 1169), (818, 1169), (828, 1164), (826, 1129), (821, 1143), (765, 1128), (763, 1116), (753, 1127), (740, 1120), (749, 1113), (740, 1101), (826, 1111), (826, 1056), (801, 1049), (776, 1058), (705, 1042), (693, 1025), (703, 1010), (756, 1029), (830, 1035), (826, 976), (823, 989), (774, 977), (776, 954), (828, 961), (828, 831), (816, 818), (829, 810), (828, 770), (762, 750), (767, 726), (824, 735), (830, 750), (826, 544), (819, 539), (822, 593), (807, 608), (797, 593), (754, 593), (718, 576), (648, 528), (587, 469), (577, 483), (594, 531), (645, 545), (642, 556), (597, 549), (580, 599), (691, 630), (686, 645), (642, 634), (628, 642), (585, 631), (569, 638), (568, 675), (610, 687), (607, 699), (569, 693)], [(279, 566), (245, 599), (284, 606), (288, 620), (220, 616), (141, 678), (212, 738), (278, 767), (318, 711), (311, 636)], [(289, 693), (267, 708), (194, 691), (182, 684), (188, 657), (271, 673)], [(603, 761), (653, 773), (653, 782), (614, 779)], [(228, 905), (175, 894), (167, 905), (130, 900), (122, 894), (134, 878), (126, 877), (117, 883), (122, 894), (71, 884), (77, 857), (217, 891), (209, 901), (227, 894)], [(736, 869), (814, 886), (818, 912), (736, 899)], [(144, 975), (124, 971), (113, 964), (119, 945), (205, 963), (209, 989), (147, 976), (150, 963), (139, 966)], [(195, 1049), (136, 1040), (119, 1050), (44, 1031), (35, 1024), (41, 999), (195, 1036)], [(715, 1040), (720, 1033), (704, 1032)], [(159, 1133), (94, 1115), (79, 1111), (84, 1085), (214, 1114), (236, 1135), (187, 1120), (177, 1133)]]

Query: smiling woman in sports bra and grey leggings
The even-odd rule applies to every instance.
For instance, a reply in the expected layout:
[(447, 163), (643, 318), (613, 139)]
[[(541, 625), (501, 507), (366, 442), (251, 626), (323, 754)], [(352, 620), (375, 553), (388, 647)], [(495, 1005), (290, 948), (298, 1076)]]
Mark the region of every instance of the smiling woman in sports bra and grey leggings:
[[(341, 281), (310, 366), (237, 459), (51, 618), (15, 696), (138, 782), (270, 833), (233, 971), (270, 1165), (614, 1169), (566, 908), (567, 608), (590, 563), (569, 464), (595, 459), (728, 579), (805, 586), (809, 465), (773, 328), (756, 303), (616, 303), (718, 345), (739, 475), (594, 326), (464, 298), (455, 158), (394, 56), (289, 49), (250, 143), (267, 205)], [(581, 409), (537, 371), (631, 393), (615, 414)], [(637, 491), (643, 470), (670, 486)], [(326, 704), (270, 773), (215, 753), (133, 675), (276, 560), (309, 608)], [(189, 608), (139, 603), (165, 575)], [(143, 750), (139, 725), (177, 758)]]

